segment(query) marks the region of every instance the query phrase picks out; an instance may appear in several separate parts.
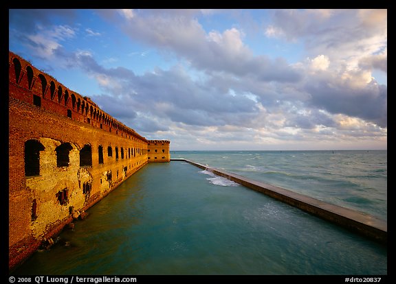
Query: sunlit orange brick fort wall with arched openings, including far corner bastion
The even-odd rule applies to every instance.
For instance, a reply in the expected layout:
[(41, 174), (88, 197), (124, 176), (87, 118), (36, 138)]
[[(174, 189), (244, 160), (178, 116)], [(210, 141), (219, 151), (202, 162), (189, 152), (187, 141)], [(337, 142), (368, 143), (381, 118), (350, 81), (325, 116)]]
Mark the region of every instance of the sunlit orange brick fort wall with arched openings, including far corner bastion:
[(148, 140), (9, 52), (9, 268), (51, 242), (147, 163), (169, 162)]

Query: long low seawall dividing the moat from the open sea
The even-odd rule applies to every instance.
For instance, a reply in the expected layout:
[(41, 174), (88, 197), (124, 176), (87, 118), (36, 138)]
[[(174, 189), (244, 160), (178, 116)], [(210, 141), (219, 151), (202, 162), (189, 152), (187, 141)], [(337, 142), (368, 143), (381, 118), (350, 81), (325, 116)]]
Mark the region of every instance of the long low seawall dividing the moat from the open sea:
[(281, 187), (268, 185), (264, 182), (232, 174), (228, 171), (224, 171), (223, 169), (217, 169), (215, 167), (195, 163), (184, 158), (171, 158), (170, 161), (184, 161), (186, 163), (190, 163), (191, 165), (195, 165), (203, 170), (210, 171), (217, 176), (228, 178), (228, 180), (237, 182), (244, 187), (265, 193), (267, 196), (271, 196), (272, 198), (276, 198), (277, 200), (296, 206), (297, 208), (321, 217), (324, 220), (353, 230), (356, 233), (360, 233), (361, 235), (379, 241), (382, 244), (387, 244), (388, 224), (374, 216), (323, 202), (322, 200), (317, 200), (315, 198), (310, 198), (309, 196), (304, 196), (303, 194), (289, 191)]

